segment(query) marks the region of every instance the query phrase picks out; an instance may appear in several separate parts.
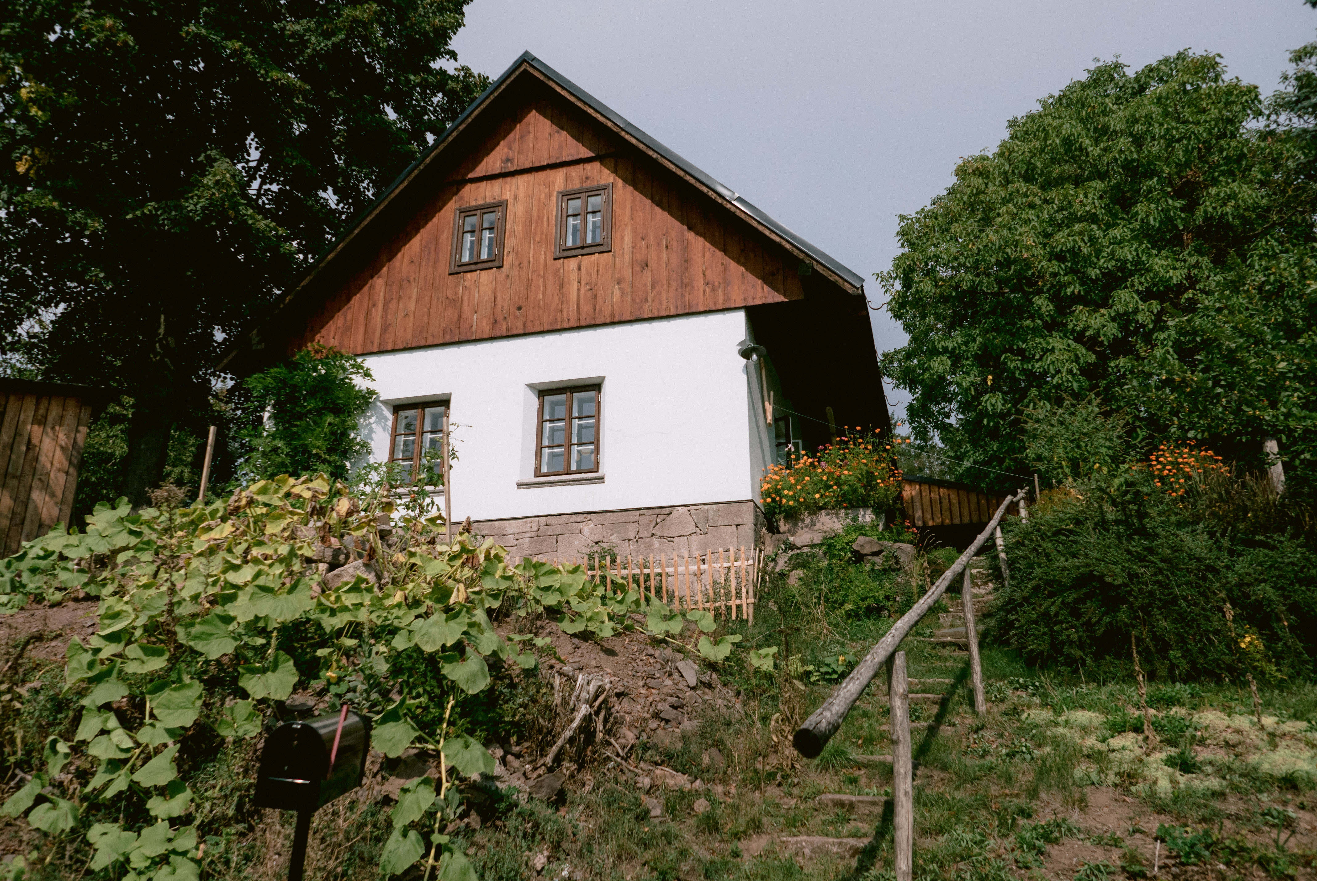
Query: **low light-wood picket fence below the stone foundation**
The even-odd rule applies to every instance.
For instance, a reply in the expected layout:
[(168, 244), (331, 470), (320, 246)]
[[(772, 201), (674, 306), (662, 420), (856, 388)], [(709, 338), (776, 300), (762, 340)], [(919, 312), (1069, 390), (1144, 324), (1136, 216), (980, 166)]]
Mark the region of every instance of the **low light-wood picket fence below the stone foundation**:
[(703, 610), (720, 618), (755, 623), (764, 552), (757, 548), (719, 548), (694, 556), (651, 554), (636, 560), (628, 554), (586, 557), (532, 557), (554, 566), (583, 566), (591, 581), (603, 577), (624, 582), (641, 597), (653, 597), (677, 610)]

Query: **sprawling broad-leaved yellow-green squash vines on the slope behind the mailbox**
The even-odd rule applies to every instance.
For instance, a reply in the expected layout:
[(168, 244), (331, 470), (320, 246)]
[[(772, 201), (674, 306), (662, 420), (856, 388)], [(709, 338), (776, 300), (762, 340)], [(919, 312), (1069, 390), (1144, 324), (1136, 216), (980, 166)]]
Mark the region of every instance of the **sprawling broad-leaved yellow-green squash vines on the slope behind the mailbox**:
[[(387, 539), (381, 516), (396, 519)], [(68, 740), (47, 740), (41, 766), (0, 810), (79, 836), (97, 870), (195, 877), (199, 836), (223, 832), (199, 819), (211, 815), (195, 797), (203, 759), (225, 737), (250, 752), (282, 702), (312, 689), (371, 716), (371, 745), (386, 756), (420, 747), (444, 757), (444, 776), (414, 784), (394, 809), (385, 870), (424, 860), (440, 878), (473, 877), (439, 834), (461, 810), (454, 774), (494, 770), (473, 736), (499, 724), (481, 701), (495, 680), (536, 666), (519, 648), (533, 639), (504, 641), (490, 616), (547, 616), (606, 637), (641, 602), (616, 578), (532, 561), (514, 569), (493, 541), (441, 536), (437, 518), (399, 516), (387, 494), (281, 475), (209, 506), (101, 504), (84, 533), (26, 544), (0, 564), (0, 611), (82, 590), (99, 597), (99, 627), (66, 653), (65, 695), (80, 708)], [(309, 560), (328, 543), (356, 548), (371, 579), (327, 587)], [(736, 640), (711, 645), (722, 658)]]

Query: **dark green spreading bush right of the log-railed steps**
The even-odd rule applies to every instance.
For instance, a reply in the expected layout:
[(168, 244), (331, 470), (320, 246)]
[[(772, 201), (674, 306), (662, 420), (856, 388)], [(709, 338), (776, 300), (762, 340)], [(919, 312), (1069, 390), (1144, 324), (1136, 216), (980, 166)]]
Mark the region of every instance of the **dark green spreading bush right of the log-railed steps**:
[(1158, 678), (1313, 674), (1317, 560), (1284, 535), (1222, 535), (1152, 474), (1119, 469), (1104, 489), (1039, 506), (1005, 527), (1010, 582), (998, 639), (1034, 664)]

